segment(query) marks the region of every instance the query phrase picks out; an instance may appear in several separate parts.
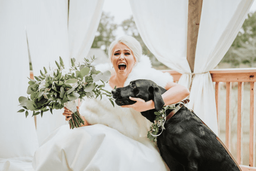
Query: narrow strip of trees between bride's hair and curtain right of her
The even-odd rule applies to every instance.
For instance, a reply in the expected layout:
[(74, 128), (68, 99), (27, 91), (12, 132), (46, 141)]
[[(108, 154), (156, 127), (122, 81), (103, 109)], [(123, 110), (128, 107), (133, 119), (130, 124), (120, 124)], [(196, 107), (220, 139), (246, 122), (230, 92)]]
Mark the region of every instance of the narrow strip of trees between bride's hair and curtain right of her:
[(139, 35), (139, 32), (138, 32), (138, 29), (134, 22), (133, 16), (131, 16), (127, 20), (124, 20), (121, 23), (121, 27), (123, 28), (123, 31), (124, 31), (124, 33), (126, 33), (126, 35), (133, 36), (134, 38), (136, 38), (139, 41), (139, 43), (142, 45), (142, 53), (150, 58), (153, 67), (155, 67), (155, 68), (160, 67), (161, 69), (167, 68), (164, 64), (162, 64), (155, 58), (153, 53), (151, 53), (151, 51), (149, 51), (149, 49), (144, 44), (142, 38)]

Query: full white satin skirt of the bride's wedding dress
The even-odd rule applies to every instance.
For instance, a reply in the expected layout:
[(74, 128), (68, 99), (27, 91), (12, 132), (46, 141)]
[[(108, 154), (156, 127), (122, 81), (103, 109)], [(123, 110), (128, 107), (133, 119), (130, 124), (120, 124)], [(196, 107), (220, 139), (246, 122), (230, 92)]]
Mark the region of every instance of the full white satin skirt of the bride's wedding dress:
[(153, 142), (128, 138), (102, 124), (59, 127), (34, 154), (35, 171), (165, 171)]

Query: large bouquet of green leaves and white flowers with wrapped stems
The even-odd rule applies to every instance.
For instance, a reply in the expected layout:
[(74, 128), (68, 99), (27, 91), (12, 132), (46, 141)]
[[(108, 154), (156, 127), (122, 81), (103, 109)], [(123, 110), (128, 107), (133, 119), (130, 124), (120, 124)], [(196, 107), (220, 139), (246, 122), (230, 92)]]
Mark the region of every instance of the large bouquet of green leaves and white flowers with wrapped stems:
[[(29, 96), (21, 96), (18, 98), (20, 106), (24, 109), (18, 112), (24, 112), (27, 117), (28, 111), (33, 111), (33, 115), (41, 114), (50, 110), (53, 114), (53, 109), (62, 109), (66, 107), (73, 112), (71, 120), (69, 120), (70, 129), (80, 127), (84, 124), (80, 114), (77, 111), (75, 100), (84, 97), (97, 98), (106, 95), (114, 106), (111, 93), (104, 90), (105, 82), (110, 79), (110, 71), (102, 73), (96, 71), (91, 65), (94, 61), (84, 58), (83, 64), (75, 64), (75, 59), (71, 59), (71, 68), (65, 69), (61, 57), (59, 63), (55, 61), (57, 67), (49, 72), (45, 67), (44, 73), (40, 70), (41, 76), (34, 76), (35, 80), (30, 79), (27, 87)], [(96, 84), (100, 82), (102, 84)]]

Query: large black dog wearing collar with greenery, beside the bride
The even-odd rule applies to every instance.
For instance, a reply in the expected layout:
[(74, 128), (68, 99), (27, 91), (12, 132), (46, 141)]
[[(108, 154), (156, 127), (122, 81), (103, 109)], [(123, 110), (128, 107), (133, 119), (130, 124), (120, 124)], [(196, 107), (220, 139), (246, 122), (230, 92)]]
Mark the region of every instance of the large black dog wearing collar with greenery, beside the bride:
[[(151, 122), (155, 111), (164, 106), (166, 89), (151, 80), (134, 80), (126, 87), (112, 90), (119, 106), (134, 104), (129, 97), (153, 100), (155, 109), (141, 112)], [(170, 113), (173, 109), (168, 109)], [(169, 120), (157, 138), (160, 155), (171, 171), (241, 171), (232, 155), (195, 113), (182, 106)]]

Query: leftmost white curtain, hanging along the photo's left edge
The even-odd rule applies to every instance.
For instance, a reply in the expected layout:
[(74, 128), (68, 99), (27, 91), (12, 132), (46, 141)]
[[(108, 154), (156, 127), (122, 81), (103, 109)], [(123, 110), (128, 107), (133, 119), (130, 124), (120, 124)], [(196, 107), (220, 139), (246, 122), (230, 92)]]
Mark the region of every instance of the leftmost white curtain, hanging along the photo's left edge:
[[(34, 118), (17, 113), (29, 77), (27, 41), (21, 1), (0, 4), (0, 161), (31, 157), (38, 148)], [(1, 169), (1, 167), (0, 167)]]

